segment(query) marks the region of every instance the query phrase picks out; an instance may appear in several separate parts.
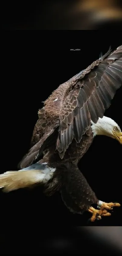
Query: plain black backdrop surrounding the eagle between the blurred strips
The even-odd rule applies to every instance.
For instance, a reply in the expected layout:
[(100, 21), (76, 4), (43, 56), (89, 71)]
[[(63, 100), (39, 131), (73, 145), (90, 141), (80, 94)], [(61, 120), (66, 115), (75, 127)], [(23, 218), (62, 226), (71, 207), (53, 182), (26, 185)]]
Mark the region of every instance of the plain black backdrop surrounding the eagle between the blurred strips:
[[(28, 151), (42, 101), (61, 83), (99, 58), (101, 51), (104, 54), (110, 45), (113, 50), (121, 45), (120, 38), (121, 31), (17, 31), (3, 34), (1, 173), (17, 170), (18, 162)], [(105, 112), (120, 128), (121, 99), (122, 88), (117, 91), (112, 105)], [(79, 163), (79, 168), (97, 197), (105, 202), (122, 201), (121, 149), (116, 140), (98, 136)], [(91, 217), (89, 213), (83, 216), (70, 213), (60, 194), (45, 197), (41, 188), (8, 194), (0, 192), (0, 198), (2, 230), (9, 234), (6, 238), (11, 238), (12, 232), (13, 239), (19, 236), (19, 240), (21, 236), (37, 239), (44, 234), (44, 242), (48, 236), (52, 236), (52, 224), (53, 227), (122, 224), (121, 208), (115, 208), (111, 217), (91, 223), (88, 222)], [(38, 236), (38, 233), (41, 235)]]

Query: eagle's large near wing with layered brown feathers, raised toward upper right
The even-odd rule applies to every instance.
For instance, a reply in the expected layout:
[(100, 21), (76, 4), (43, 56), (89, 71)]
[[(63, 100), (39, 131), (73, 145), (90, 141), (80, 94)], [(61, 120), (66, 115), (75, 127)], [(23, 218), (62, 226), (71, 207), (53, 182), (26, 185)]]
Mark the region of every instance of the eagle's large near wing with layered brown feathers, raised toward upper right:
[[(108, 56), (108, 57), (107, 57)], [(122, 45), (72, 78), (75, 83), (60, 110), (57, 150), (61, 158), (75, 138), (80, 142), (91, 120), (97, 123), (122, 85)]]

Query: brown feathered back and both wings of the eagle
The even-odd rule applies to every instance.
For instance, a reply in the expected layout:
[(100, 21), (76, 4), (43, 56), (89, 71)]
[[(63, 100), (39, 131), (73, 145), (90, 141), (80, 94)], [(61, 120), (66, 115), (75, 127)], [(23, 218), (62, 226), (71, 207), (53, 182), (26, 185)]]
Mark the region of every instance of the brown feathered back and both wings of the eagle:
[(38, 111), (39, 119), (31, 139), (31, 149), (19, 167), (25, 168), (32, 164), (58, 126), (60, 129), (56, 148), (63, 158), (74, 137), (80, 142), (91, 119), (97, 122), (98, 117), (103, 117), (121, 83), (122, 46), (112, 54), (109, 49), (100, 59), (60, 85)]

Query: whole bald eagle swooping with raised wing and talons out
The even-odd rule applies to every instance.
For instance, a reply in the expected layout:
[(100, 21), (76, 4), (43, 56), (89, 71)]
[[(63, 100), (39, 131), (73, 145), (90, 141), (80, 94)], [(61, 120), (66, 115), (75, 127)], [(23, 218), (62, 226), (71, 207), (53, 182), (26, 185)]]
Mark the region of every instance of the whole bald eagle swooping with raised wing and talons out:
[[(73, 213), (89, 211), (91, 221), (109, 216), (108, 210), (120, 204), (97, 199), (77, 164), (96, 135), (122, 144), (119, 125), (104, 116), (121, 85), (122, 45), (113, 52), (109, 49), (52, 92), (38, 110), (31, 146), (19, 163), (19, 171), (0, 175), (3, 191), (41, 184), (48, 196), (59, 191)], [(97, 209), (92, 204), (97, 204)]]

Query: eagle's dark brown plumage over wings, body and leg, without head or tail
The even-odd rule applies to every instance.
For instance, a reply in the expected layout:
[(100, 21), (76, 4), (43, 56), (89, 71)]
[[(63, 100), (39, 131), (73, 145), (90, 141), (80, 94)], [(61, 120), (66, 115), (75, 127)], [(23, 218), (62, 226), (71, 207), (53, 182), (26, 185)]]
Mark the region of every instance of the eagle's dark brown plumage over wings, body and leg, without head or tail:
[(77, 163), (93, 141), (91, 120), (97, 123), (110, 106), (122, 84), (122, 45), (94, 61), (85, 70), (60, 85), (38, 111), (31, 147), (20, 163), (26, 168), (35, 162), (56, 168), (45, 193), (59, 189), (67, 207), (86, 211), (98, 199)]

